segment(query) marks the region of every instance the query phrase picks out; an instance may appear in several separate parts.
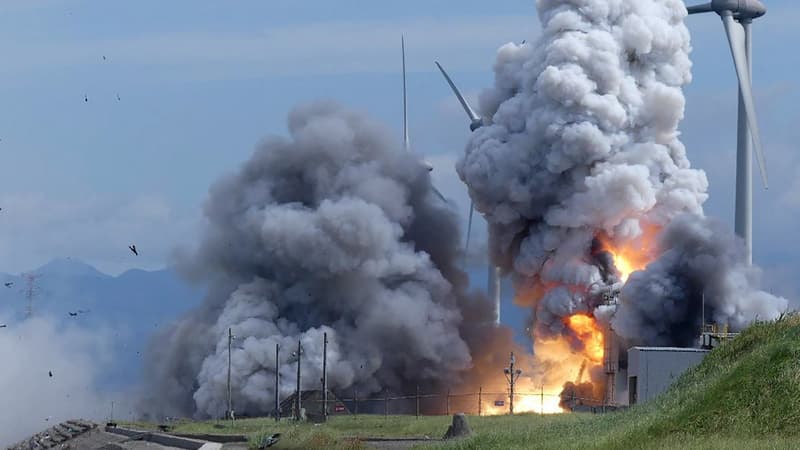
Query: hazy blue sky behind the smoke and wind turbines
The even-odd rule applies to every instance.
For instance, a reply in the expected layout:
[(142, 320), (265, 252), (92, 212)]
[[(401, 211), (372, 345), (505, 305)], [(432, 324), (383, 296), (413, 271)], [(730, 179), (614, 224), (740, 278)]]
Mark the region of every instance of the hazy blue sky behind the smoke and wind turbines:
[[(756, 190), (755, 260), (769, 289), (797, 298), (800, 7), (766, 3), (754, 79), (771, 188)], [(110, 273), (168, 264), (197, 236), (209, 185), (259, 139), (284, 134), (298, 102), (339, 100), (392, 126), (399, 140), (401, 33), (414, 151), (466, 210), (452, 165), (469, 131), (433, 61), (476, 96), (492, 83), (495, 50), (536, 36), (533, 0), (221, 5), (0, 3), (0, 271), (58, 256)], [(708, 214), (732, 224), (736, 79), (719, 20), (687, 22), (695, 66), (683, 140), (708, 173)]]

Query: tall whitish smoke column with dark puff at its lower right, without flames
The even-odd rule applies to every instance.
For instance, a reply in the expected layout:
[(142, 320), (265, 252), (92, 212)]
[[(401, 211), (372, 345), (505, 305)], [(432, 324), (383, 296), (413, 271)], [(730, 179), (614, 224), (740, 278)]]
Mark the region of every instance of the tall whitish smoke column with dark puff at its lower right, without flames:
[(631, 277), (616, 318), (596, 311), (632, 342), (687, 344), (676, 330), (699, 330), (706, 288), (719, 323), (777, 315), (785, 299), (755, 290), (741, 243), (703, 218), (708, 182), (678, 139), (691, 80), (683, 2), (537, 5), (542, 36), (499, 50), (495, 86), (481, 96), (490, 124), (457, 167), (521, 296), (546, 287), (530, 300), (535, 333), (563, 333), (566, 316), (595, 313), (597, 294), (620, 288), (601, 240), (656, 258)]

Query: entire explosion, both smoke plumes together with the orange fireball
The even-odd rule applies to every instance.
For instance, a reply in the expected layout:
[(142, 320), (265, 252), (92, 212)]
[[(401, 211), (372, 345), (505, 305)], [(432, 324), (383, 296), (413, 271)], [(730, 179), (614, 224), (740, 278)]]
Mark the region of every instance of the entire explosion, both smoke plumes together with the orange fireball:
[(692, 345), (704, 298), (734, 330), (785, 310), (758, 289), (742, 242), (703, 213), (708, 182), (678, 130), (684, 4), (537, 6), (541, 37), (499, 50), (485, 126), (456, 167), (492, 263), (531, 312), (533, 351), (468, 292), (456, 217), (424, 166), (363, 115), (315, 103), (211, 189), (198, 248), (181, 258), (208, 297), (153, 340), (148, 412), (223, 414), (228, 329), (237, 414), (269, 413), (293, 391), (298, 341), (301, 388), (318, 388), (323, 333), (334, 391), (481, 387), (483, 413), (504, 413), (513, 351), (515, 411), (557, 413), (614, 403), (625, 348)]

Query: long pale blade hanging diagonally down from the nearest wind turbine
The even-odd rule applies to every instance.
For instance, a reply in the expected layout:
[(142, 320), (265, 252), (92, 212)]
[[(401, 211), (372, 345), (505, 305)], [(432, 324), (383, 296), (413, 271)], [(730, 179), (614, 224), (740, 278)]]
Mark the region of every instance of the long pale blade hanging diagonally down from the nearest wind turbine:
[(733, 65), (736, 67), (736, 76), (739, 78), (739, 91), (742, 93), (742, 102), (747, 114), (747, 125), (753, 135), (753, 148), (756, 152), (758, 168), (761, 171), (761, 179), (764, 181), (764, 188), (769, 188), (767, 165), (764, 161), (764, 152), (761, 149), (761, 133), (758, 131), (758, 120), (756, 120), (753, 85), (750, 82), (750, 71), (748, 70), (744, 29), (736, 24), (733, 20), (733, 15), (729, 11), (725, 11), (722, 14), (722, 23), (725, 25), (725, 33), (728, 35), (728, 43), (731, 47), (731, 55), (733, 55)]

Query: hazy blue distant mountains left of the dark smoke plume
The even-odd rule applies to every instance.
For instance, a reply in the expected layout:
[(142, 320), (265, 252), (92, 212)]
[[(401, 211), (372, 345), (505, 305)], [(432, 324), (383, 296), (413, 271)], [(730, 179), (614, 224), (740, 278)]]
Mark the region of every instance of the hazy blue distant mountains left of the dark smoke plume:
[(0, 282), (0, 313), (11, 318), (7, 330), (25, 318), (30, 290), (34, 315), (54, 318), (59, 325), (102, 330), (112, 339), (113, 364), (101, 373), (105, 388), (138, 380), (153, 332), (198, 305), (204, 295), (202, 286), (188, 284), (173, 269), (134, 269), (111, 276), (72, 258), (20, 275), (0, 273)]

